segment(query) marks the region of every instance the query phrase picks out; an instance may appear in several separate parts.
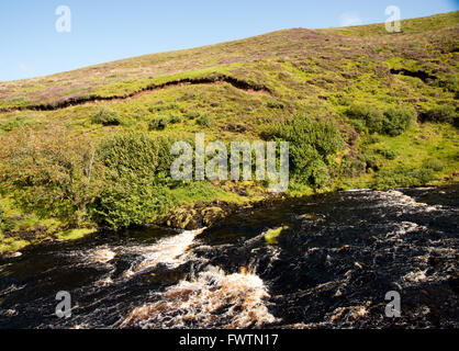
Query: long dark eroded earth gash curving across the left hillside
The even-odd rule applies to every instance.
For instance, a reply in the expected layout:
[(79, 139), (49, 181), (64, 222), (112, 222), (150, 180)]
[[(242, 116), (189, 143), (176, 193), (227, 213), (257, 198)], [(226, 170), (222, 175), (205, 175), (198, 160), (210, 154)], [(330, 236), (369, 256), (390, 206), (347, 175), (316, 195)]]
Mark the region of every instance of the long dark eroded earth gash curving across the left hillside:
[(33, 110), (33, 111), (54, 111), (66, 109), (74, 105), (81, 105), (88, 102), (99, 102), (99, 101), (112, 101), (112, 100), (124, 100), (130, 98), (136, 98), (139, 94), (146, 91), (159, 90), (165, 89), (172, 86), (180, 86), (180, 84), (211, 84), (217, 82), (226, 82), (232, 84), (237, 89), (242, 89), (245, 91), (258, 91), (265, 93), (271, 93), (271, 91), (265, 86), (253, 84), (244, 80), (239, 80), (226, 75), (219, 75), (219, 76), (211, 76), (211, 77), (203, 77), (203, 78), (184, 78), (184, 79), (177, 79), (167, 81), (160, 84), (148, 84), (145, 88), (139, 90), (133, 91), (128, 94), (123, 95), (112, 95), (112, 97), (99, 97), (99, 95), (87, 95), (87, 97), (78, 97), (67, 99), (56, 103), (42, 103), (35, 105), (27, 105), (27, 106), (15, 106), (15, 107), (0, 107), (0, 112), (12, 112), (12, 111), (24, 111), (24, 110)]

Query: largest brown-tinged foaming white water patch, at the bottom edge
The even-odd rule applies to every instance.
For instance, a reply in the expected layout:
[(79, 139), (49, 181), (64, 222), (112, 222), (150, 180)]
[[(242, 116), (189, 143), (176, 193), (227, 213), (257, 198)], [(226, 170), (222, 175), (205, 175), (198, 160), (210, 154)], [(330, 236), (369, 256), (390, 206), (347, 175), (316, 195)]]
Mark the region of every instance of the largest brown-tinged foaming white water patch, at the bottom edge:
[(226, 274), (217, 267), (156, 294), (157, 302), (134, 308), (121, 327), (248, 328), (276, 321), (265, 305), (262, 280), (242, 269)]

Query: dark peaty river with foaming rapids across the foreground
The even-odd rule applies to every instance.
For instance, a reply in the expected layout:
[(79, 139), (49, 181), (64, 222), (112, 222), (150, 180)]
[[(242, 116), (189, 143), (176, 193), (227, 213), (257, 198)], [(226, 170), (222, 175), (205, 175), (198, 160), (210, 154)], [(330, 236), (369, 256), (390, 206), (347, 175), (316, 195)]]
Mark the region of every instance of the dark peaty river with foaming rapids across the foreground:
[[(0, 261), (0, 328), (458, 328), (458, 194), (339, 192), (244, 208), (202, 233), (26, 249)], [(59, 291), (69, 318), (55, 315)], [(389, 291), (399, 318), (384, 314)]]

